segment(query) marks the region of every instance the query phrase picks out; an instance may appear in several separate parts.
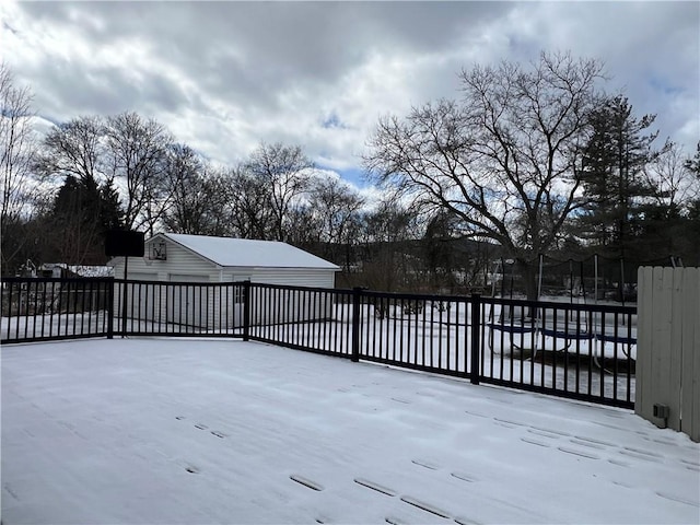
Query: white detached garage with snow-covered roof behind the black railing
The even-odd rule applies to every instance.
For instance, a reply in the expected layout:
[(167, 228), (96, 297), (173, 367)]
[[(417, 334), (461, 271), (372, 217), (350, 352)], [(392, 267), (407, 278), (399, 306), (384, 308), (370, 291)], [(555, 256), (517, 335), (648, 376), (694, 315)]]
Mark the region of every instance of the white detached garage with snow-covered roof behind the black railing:
[[(246, 281), (314, 288), (334, 288), (340, 267), (285, 243), (247, 238), (213, 237), (159, 233), (145, 241), (143, 257), (128, 259), (129, 280), (172, 283), (220, 283)], [(109, 262), (115, 277), (124, 279), (125, 258)], [(226, 326), (241, 320), (241, 298), (230, 301), (233, 307), (219, 299), (203, 294), (201, 287), (186, 287), (170, 295), (163, 287), (140, 287), (138, 294), (127, 301), (127, 310), (141, 303), (140, 312), (148, 318), (165, 318), (168, 323), (185, 319), (186, 324), (211, 327), (214, 312), (231, 312)], [(115, 298), (117, 301), (118, 298)], [(224, 303), (229, 303), (226, 299)], [(158, 305), (158, 307), (153, 307)]]

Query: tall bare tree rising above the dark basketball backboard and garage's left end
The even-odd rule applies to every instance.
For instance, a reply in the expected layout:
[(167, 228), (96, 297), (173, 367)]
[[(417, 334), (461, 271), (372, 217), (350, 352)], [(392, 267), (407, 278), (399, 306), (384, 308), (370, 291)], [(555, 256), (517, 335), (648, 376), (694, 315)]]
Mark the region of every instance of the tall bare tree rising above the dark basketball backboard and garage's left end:
[(173, 139), (158, 121), (136, 113), (109, 117), (105, 136), (109, 170), (126, 189), (126, 226), (153, 234), (168, 206), (164, 166)]

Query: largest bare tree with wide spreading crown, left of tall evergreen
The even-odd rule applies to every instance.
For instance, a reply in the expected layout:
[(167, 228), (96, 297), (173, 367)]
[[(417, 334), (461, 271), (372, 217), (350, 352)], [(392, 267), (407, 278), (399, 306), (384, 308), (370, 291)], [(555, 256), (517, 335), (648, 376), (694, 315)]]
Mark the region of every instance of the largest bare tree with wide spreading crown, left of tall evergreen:
[(463, 70), (459, 102), (382, 118), (365, 165), (417, 205), (456, 215), (464, 234), (493, 240), (516, 259), (536, 294), (540, 253), (561, 241), (581, 205), (582, 149), (602, 66), (542, 52)]

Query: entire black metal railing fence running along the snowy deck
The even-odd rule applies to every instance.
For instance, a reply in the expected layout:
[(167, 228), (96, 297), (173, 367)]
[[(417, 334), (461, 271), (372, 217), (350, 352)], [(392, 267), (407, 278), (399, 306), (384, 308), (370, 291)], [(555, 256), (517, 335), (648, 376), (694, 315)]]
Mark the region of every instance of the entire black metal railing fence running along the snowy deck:
[(2, 281), (2, 342), (236, 337), (633, 407), (637, 308), (250, 282)]

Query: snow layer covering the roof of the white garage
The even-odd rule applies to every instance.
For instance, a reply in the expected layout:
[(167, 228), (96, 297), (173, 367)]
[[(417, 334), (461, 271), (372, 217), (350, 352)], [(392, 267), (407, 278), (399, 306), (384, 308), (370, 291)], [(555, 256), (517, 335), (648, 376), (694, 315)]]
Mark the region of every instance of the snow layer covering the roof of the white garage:
[[(163, 233), (161, 235), (219, 266), (340, 269), (332, 262), (308, 252), (277, 241), (211, 237), (180, 233)], [(156, 237), (158, 235), (152, 238)]]

